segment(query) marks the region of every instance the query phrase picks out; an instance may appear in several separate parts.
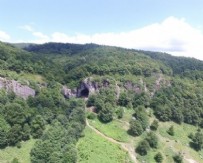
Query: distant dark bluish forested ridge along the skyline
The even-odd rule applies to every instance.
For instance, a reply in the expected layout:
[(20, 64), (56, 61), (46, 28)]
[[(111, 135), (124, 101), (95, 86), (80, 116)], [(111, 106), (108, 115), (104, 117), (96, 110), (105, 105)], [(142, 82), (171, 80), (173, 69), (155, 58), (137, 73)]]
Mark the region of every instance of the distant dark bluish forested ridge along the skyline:
[[(63, 55), (74, 55), (84, 50), (93, 50), (95, 48), (109, 48), (108, 46), (100, 46), (96, 44), (64, 44), (64, 43), (46, 43), (42, 45), (30, 45), (24, 49), (30, 52), (45, 53), (45, 54), (63, 54)], [(118, 51), (124, 49), (117, 48)], [(175, 57), (167, 53), (151, 52), (151, 51), (139, 51), (139, 50), (124, 50), (125, 52), (131, 53), (142, 53), (150, 56), (154, 60), (161, 61), (165, 65), (169, 66), (173, 70), (173, 74), (184, 74), (188, 71), (197, 73), (196, 71), (203, 71), (203, 61), (187, 58), (187, 57)], [(125, 53), (123, 52), (123, 53)], [(187, 75), (187, 74), (184, 74)], [(198, 74), (199, 75), (199, 74)]]

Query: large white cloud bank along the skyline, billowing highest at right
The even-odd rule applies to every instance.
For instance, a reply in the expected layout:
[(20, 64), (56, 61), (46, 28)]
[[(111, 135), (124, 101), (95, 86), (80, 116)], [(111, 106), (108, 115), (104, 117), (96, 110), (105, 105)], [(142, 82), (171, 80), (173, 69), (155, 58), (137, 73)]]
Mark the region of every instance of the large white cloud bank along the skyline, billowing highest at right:
[(162, 51), (179, 56), (190, 56), (203, 60), (203, 33), (184, 19), (166, 18), (140, 29), (121, 33), (97, 33), (93, 35), (54, 32), (50, 36), (35, 31), (31, 26), (24, 29), (32, 32), (32, 42), (97, 43), (143, 50)]

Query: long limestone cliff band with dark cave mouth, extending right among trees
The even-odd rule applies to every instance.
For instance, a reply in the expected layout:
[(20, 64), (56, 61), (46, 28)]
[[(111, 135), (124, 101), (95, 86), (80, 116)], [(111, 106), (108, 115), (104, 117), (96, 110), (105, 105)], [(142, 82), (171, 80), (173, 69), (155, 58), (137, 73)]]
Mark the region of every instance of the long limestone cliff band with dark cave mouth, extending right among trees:
[[(162, 74), (153, 74), (153, 77), (154, 77), (154, 81), (152, 82), (151, 89), (147, 87), (147, 84), (144, 82), (143, 78), (140, 78), (137, 84), (133, 83), (132, 81), (126, 81), (123, 83), (122, 86), (118, 86), (117, 83), (115, 83), (115, 91), (116, 91), (117, 99), (119, 98), (120, 89), (122, 89), (122, 87), (126, 90), (134, 92), (135, 94), (147, 92), (152, 97), (154, 93), (160, 90), (162, 87), (170, 86), (170, 81), (166, 80)], [(109, 86), (110, 86), (110, 82), (108, 81), (108, 79), (102, 80), (100, 82), (96, 82), (93, 80), (92, 77), (90, 77), (90, 78), (84, 79), (80, 83), (78, 88), (69, 89), (68, 87), (63, 86), (62, 94), (66, 98), (88, 97), (91, 94), (99, 92), (101, 88), (105, 88)]]

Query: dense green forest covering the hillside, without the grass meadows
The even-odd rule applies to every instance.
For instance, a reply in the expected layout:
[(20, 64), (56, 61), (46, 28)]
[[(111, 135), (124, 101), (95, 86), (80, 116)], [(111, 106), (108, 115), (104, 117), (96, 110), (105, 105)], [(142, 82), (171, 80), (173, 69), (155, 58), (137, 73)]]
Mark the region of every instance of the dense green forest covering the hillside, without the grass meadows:
[[(160, 52), (123, 49), (96, 44), (8, 44), (0, 42), (0, 76), (28, 85), (34, 97), (23, 99), (0, 89), (0, 148), (21, 148), (36, 139), (32, 163), (77, 162), (77, 142), (84, 137), (86, 117), (108, 124), (133, 114), (127, 133), (147, 133), (135, 152), (156, 149), (159, 122), (190, 124), (191, 147), (203, 148), (203, 62)], [(67, 98), (62, 87), (78, 89), (87, 79), (98, 88), (86, 98)], [(108, 81), (108, 85), (103, 81)], [(86, 108), (94, 108), (87, 113)], [(150, 111), (149, 111), (150, 108)], [(150, 122), (148, 114), (156, 120)], [(150, 115), (150, 116), (152, 116)], [(173, 127), (168, 131), (173, 135)], [(163, 156), (157, 153), (156, 162)], [(181, 160), (180, 155), (174, 161)], [(158, 160), (158, 161), (157, 161)], [(20, 162), (13, 158), (13, 162)]]

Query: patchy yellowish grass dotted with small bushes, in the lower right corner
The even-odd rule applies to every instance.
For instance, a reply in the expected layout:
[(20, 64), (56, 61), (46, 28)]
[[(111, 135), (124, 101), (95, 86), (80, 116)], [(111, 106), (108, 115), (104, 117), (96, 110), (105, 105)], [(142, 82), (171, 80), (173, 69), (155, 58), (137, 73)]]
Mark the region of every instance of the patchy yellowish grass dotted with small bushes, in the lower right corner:
[[(175, 135), (170, 136), (167, 133), (168, 128), (173, 125)], [(188, 124), (176, 124), (174, 122), (160, 122), (159, 128), (156, 134), (159, 138), (159, 146), (157, 149), (150, 149), (146, 156), (138, 155), (139, 162), (152, 162), (155, 163), (154, 156), (157, 152), (161, 152), (164, 161), (163, 163), (173, 162), (173, 155), (176, 153), (182, 153), (184, 163), (188, 163), (186, 159), (195, 160), (200, 163), (203, 162), (200, 156), (203, 156), (203, 151), (197, 152), (189, 146), (190, 139), (188, 135), (192, 132), (195, 133), (197, 127)]]

